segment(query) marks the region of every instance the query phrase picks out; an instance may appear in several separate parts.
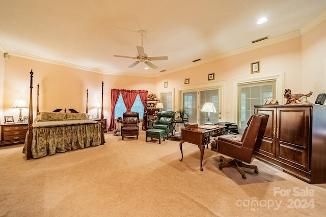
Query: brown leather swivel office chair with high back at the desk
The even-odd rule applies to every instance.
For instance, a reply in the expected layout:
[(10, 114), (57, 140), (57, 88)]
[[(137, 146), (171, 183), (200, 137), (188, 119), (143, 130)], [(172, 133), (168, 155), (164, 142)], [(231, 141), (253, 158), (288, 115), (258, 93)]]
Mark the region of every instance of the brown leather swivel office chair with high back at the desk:
[(214, 138), (216, 142), (211, 143), (211, 150), (233, 158), (227, 159), (220, 156), (219, 168), (221, 170), (223, 167), (235, 167), (242, 175), (242, 178), (246, 178), (246, 175), (240, 167), (254, 169), (254, 172), (258, 173), (257, 166), (247, 165), (242, 161), (251, 164), (255, 159), (266, 130), (268, 117), (268, 114), (254, 114), (251, 116), (247, 123), (248, 127), (244, 130), (240, 140), (224, 138), (223, 136)]

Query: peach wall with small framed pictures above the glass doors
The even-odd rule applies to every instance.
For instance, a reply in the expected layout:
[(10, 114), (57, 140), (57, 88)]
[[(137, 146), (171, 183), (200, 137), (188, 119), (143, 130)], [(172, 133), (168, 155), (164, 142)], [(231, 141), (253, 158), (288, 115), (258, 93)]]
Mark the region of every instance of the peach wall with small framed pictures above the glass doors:
[[(255, 61), (260, 61), (260, 73), (251, 74), (251, 63)], [(215, 73), (214, 81), (208, 81), (208, 74), (211, 73)], [(222, 117), (222, 119), (228, 121), (232, 119), (231, 96), (234, 79), (280, 73), (284, 73), (285, 88), (291, 89), (292, 93), (302, 91), (301, 37), (160, 76), (156, 80), (156, 86), (158, 87), (157, 91), (162, 90), (164, 82), (168, 81), (169, 87), (171, 85), (175, 88), (175, 107), (179, 108), (178, 88), (225, 81), (227, 112), (226, 117)], [(185, 78), (190, 79), (190, 84), (184, 84)], [(283, 99), (278, 100), (283, 102)]]

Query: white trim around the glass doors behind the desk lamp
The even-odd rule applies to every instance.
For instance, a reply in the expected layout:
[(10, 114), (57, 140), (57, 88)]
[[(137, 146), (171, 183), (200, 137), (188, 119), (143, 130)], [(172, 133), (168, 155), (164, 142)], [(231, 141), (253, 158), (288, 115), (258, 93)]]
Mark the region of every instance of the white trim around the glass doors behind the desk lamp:
[[(199, 84), (199, 85), (192, 85), (192, 86), (186, 86), (186, 87), (180, 87), (178, 88), (178, 105), (182, 105), (182, 93), (183, 92), (191, 92), (191, 91), (197, 91), (197, 90), (209, 90), (209, 89), (220, 89), (219, 96), (221, 97), (221, 105), (219, 108), (219, 112), (221, 112), (221, 119), (219, 119), (219, 122), (224, 122), (226, 119), (226, 91), (225, 91), (226, 81), (219, 81), (219, 82), (212, 82), (212, 83), (205, 83), (205, 84)], [(200, 110), (199, 110), (200, 111)], [(197, 115), (198, 116), (198, 115)]]

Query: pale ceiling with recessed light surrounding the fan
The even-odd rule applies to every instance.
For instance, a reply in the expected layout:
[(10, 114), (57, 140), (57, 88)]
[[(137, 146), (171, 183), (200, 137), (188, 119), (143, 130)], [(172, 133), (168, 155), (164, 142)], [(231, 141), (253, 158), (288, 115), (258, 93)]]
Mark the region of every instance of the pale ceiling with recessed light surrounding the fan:
[[(95, 72), (157, 76), (302, 30), (325, 0), (0, 0), (0, 49)], [(264, 24), (256, 24), (267, 17)], [(114, 54), (141, 46), (157, 69)], [(265, 40), (264, 42), (266, 42)], [(197, 62), (196, 64), (198, 64)]]

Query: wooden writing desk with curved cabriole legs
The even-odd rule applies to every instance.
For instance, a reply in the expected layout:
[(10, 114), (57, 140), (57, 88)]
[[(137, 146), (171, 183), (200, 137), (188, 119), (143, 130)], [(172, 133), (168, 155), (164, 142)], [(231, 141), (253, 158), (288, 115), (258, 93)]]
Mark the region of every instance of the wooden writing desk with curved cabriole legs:
[[(203, 126), (203, 125), (201, 125)], [(199, 126), (200, 127), (200, 126)], [(217, 126), (216, 126), (217, 127)], [(214, 129), (203, 129), (198, 128), (195, 130), (187, 130), (185, 128), (181, 129), (181, 140), (180, 140), (180, 151), (181, 151), (181, 159), (183, 159), (183, 152), (182, 152), (182, 144), (184, 142), (189, 142), (195, 145), (198, 145), (200, 149), (200, 170), (203, 171), (203, 156), (205, 145), (210, 142), (210, 136), (220, 136), (224, 134), (226, 131), (226, 126), (218, 126)]]

